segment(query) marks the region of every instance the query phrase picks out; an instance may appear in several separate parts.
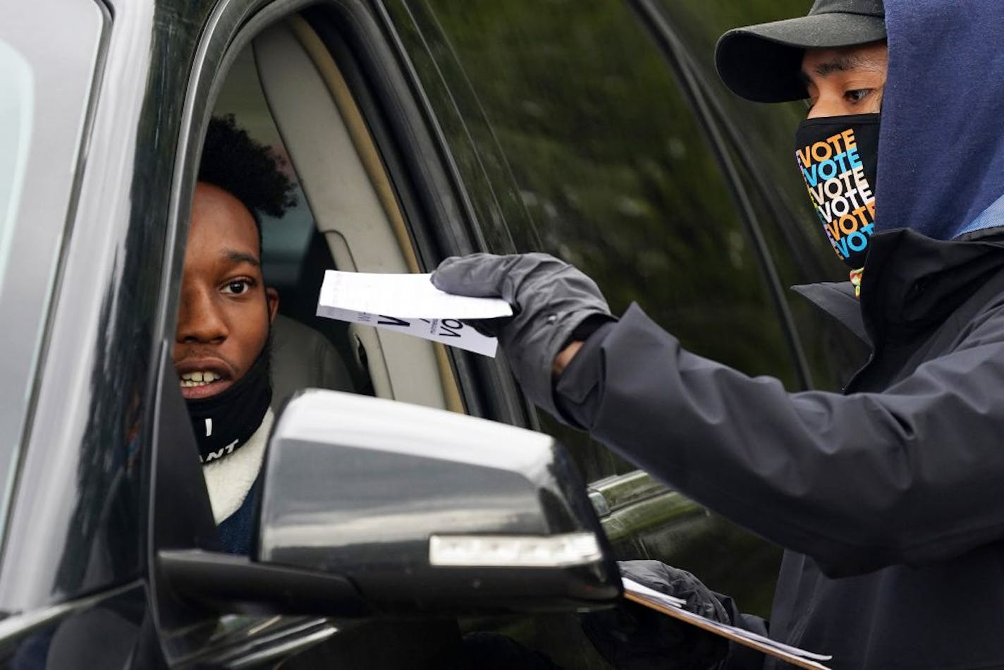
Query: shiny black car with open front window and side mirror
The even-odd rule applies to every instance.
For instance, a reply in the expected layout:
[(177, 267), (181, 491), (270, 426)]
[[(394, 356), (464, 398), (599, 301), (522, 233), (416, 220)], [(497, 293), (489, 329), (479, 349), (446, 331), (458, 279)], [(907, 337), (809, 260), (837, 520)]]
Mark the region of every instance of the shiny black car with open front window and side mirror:
[[(615, 600), (613, 557), (766, 613), (776, 547), (538, 416), (504, 361), (315, 308), (325, 269), (542, 250), (698, 354), (836, 388), (858, 350), (786, 289), (840, 273), (805, 225), (802, 110), (711, 64), (727, 27), (806, 4), (0, 5), (3, 662), (421, 667), (494, 631), (603, 668), (570, 613)], [(171, 361), (219, 115), (299, 185), (264, 222), (281, 411), (248, 559), (214, 550)]]

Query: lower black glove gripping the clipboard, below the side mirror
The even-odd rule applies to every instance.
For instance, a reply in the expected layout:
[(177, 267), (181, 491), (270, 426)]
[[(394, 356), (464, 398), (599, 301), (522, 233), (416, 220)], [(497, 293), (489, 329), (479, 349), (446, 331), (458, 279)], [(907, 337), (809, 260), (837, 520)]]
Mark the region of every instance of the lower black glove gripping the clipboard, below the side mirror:
[[(732, 623), (722, 603), (687, 571), (659, 561), (617, 565), (622, 577), (686, 600), (686, 610)], [(725, 638), (630, 601), (613, 610), (583, 615), (581, 623), (596, 650), (617, 670), (710, 670), (729, 654)]]

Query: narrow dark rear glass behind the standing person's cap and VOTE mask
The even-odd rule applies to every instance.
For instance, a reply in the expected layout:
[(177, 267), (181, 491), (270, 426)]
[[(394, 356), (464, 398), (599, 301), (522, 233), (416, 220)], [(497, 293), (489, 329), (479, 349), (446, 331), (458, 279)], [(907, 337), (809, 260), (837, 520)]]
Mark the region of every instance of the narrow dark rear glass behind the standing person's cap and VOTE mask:
[[(716, 110), (732, 158), (754, 208), (783, 286), (846, 281), (809, 206), (794, 161), (794, 133), (805, 117), (801, 101), (761, 104), (732, 93), (715, 71), (715, 41), (742, 25), (805, 14), (802, 0), (742, 3), (661, 0), (668, 23)], [(839, 389), (863, 362), (864, 346), (792, 291), (786, 293), (815, 388)]]

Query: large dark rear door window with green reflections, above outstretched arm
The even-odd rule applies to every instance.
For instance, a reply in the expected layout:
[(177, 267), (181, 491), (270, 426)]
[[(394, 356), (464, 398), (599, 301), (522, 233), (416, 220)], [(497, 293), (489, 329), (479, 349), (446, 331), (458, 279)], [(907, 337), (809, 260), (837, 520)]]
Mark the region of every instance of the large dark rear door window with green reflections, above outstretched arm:
[[(504, 225), (518, 250), (592, 276), (615, 313), (638, 301), (690, 350), (795, 384), (719, 165), (626, 3), (430, 0), (409, 18), (422, 39), (404, 31), (406, 42), (464, 179), (493, 185), (475, 191), (504, 221), (481, 221), (492, 250), (507, 250), (493, 244)], [(588, 479), (630, 469), (542, 420)]]

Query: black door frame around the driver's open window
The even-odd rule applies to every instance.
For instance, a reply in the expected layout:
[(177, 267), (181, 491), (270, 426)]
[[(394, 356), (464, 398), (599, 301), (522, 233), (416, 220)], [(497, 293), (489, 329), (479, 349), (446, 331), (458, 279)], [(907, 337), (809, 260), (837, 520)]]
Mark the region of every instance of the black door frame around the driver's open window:
[[(191, 442), (192, 438), (184, 405), (173, 386), (170, 346), (187, 240), (187, 210), (195, 186), (202, 137), (219, 87), (239, 50), (272, 21), (316, 4), (310, 0), (222, 0), (200, 30), (182, 97), (159, 298), (157, 339), (161, 349), (153, 402), (157, 414), (153, 422), (155, 465), (151, 475), (149, 542), (158, 629), (171, 663), (211, 662), (228, 667), (263, 663), (312, 646), (338, 628), (324, 618), (280, 617), (276, 619), (283, 621), (262, 622), (260, 629), (237, 626), (229, 633), (210, 632), (217, 618), (179, 600), (157, 560), (158, 551), (163, 549), (213, 548), (212, 528), (207, 520), (211, 518), (208, 496), (199, 476), (198, 460), (194, 454), (192, 459), (177, 458), (179, 443)], [(381, 25), (374, 19), (372, 6), (358, 0), (320, 6), (333, 12), (345, 31), (345, 47), (351, 51), (354, 63), (346, 68), (346, 78), (356, 91), (364, 93), (358, 96), (360, 107), (372, 122), (374, 140), (384, 151), (420, 261), (428, 266), (447, 252), (469, 249), (471, 219), (456, 205), (462, 190), (454, 188), (449, 170), (443, 167), (443, 148), (432, 139), (435, 123), (430, 120), (434, 118), (423, 113), (421, 96), (416, 100), (415, 82), (409, 80), (407, 67), (395, 51), (393, 28)], [(448, 222), (449, 233), (438, 234), (438, 228), (427, 225), (431, 220)], [(525, 404), (515, 391), (511, 376), (499, 364), (487, 366), (489, 374), (494, 369), (495, 377), (508, 378), (508, 386), (504, 380), (482, 383), (483, 371), (478, 371), (478, 364), (467, 358), (452, 355), (451, 360), (469, 413), (491, 415), (490, 418), (502, 418), (517, 425), (528, 423)], [(168, 452), (169, 445), (174, 451), (172, 455)], [(179, 496), (180, 491), (188, 495)]]

